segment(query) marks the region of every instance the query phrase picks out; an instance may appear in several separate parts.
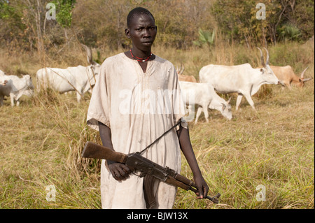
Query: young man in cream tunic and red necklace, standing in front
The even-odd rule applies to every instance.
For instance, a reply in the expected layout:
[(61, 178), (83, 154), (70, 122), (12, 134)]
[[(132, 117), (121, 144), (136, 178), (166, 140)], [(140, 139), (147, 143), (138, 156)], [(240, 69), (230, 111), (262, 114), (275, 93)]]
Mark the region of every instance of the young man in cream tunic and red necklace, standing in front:
[[(102, 64), (87, 124), (99, 130), (104, 146), (129, 154), (146, 148), (179, 122), (184, 113), (173, 64), (151, 52), (157, 34), (153, 15), (145, 8), (131, 10), (125, 34), (132, 41), (132, 49), (109, 57)], [(186, 122), (169, 131), (142, 155), (180, 173), (180, 151), (193, 171), (200, 192), (197, 197), (202, 199), (207, 196), (208, 186), (195, 159)], [(144, 178), (134, 175), (125, 164), (102, 161), (102, 208), (146, 208), (143, 185)], [(154, 180), (153, 192), (156, 203), (152, 208), (173, 207), (176, 187)]]

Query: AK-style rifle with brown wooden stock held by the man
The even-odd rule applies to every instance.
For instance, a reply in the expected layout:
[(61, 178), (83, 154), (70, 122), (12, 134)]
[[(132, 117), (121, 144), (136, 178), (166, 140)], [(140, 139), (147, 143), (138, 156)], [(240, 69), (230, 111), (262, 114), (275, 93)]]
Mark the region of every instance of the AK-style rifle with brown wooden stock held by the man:
[[(186, 190), (191, 190), (195, 193), (198, 192), (197, 186), (193, 181), (188, 180), (188, 178), (180, 175), (179, 173), (176, 173), (169, 167), (163, 167), (159, 164), (155, 164), (153, 161), (142, 157), (139, 152), (123, 154), (121, 152), (115, 152), (109, 148), (106, 148), (103, 145), (87, 142), (85, 143), (85, 147), (81, 156), (94, 159), (109, 159), (111, 161), (126, 164), (127, 166), (134, 168), (134, 170), (139, 171), (141, 173), (139, 175), (140, 177), (152, 176), (162, 180), (163, 182), (167, 182), (170, 185), (181, 187), (182, 189)], [(150, 186), (148, 186), (146, 189), (146, 186), (144, 185), (144, 190), (147, 190), (147, 192), (150, 191)], [(218, 203), (218, 198), (220, 196), (221, 194), (218, 193), (214, 197), (207, 196), (207, 199), (214, 203)], [(153, 206), (155, 201), (152, 201), (152, 196), (151, 198), (149, 196), (147, 199), (149, 199), (149, 202), (147, 202), (147, 207), (150, 208)]]

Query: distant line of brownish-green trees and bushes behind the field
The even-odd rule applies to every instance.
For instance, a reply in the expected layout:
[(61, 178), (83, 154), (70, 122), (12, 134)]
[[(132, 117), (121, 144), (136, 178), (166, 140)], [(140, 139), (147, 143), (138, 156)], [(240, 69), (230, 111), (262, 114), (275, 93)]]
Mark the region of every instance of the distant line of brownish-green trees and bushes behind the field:
[(185, 49), (216, 41), (253, 45), (314, 36), (314, 0), (0, 0), (1, 48), (62, 49), (73, 41), (125, 48), (132, 8), (151, 10), (157, 42)]

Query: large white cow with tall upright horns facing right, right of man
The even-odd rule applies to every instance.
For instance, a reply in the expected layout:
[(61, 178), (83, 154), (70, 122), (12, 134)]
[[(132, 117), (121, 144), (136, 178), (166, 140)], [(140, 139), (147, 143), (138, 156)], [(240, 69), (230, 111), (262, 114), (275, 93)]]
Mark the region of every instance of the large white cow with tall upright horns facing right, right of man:
[[(260, 48), (258, 48), (260, 50)], [(239, 108), (241, 99), (245, 96), (253, 110), (255, 106), (251, 96), (258, 92), (261, 85), (283, 85), (276, 78), (269, 66), (269, 53), (267, 51), (266, 63), (262, 51), (260, 50), (261, 69), (253, 69), (251, 64), (241, 64), (237, 66), (221, 66), (210, 64), (202, 67), (199, 73), (200, 82), (210, 83), (216, 92), (221, 94), (237, 93), (236, 110)]]

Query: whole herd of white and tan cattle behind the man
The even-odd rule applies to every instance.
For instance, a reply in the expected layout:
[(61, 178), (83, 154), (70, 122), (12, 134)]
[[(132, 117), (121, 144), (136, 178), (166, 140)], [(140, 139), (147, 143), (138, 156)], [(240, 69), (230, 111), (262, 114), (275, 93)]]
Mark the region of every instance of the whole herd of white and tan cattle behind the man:
[[(83, 45), (87, 52), (87, 61), (89, 66), (68, 67), (67, 69), (45, 67), (36, 72), (37, 92), (48, 87), (59, 93), (76, 91), (77, 101), (80, 102), (85, 92), (92, 91), (96, 78), (100, 71), (100, 64), (92, 59), (92, 51)], [(249, 105), (255, 110), (251, 96), (258, 92), (261, 85), (281, 85), (291, 89), (291, 84), (297, 87), (304, 87), (304, 82), (312, 78), (304, 78), (304, 73), (300, 77), (295, 75), (291, 66), (269, 66), (269, 52), (267, 52), (266, 62), (260, 51), (261, 66), (253, 68), (251, 64), (240, 64), (236, 66), (223, 66), (209, 64), (202, 67), (199, 72), (200, 82), (197, 82), (193, 75), (183, 75), (184, 67), (176, 69), (179, 76), (179, 85), (184, 103), (188, 106), (197, 106), (198, 117), (204, 112), (204, 117), (208, 122), (208, 108), (216, 109), (228, 120), (232, 119), (230, 99), (225, 101), (217, 93), (229, 94), (237, 93), (235, 109), (238, 110), (241, 99), (244, 96)], [(186, 100), (187, 95), (195, 96), (194, 100)], [(22, 95), (32, 96), (34, 94), (34, 85), (30, 75), (23, 75), (18, 78), (16, 75), (6, 75), (0, 70), (0, 106), (3, 106), (4, 96), (10, 96), (11, 106), (19, 106)], [(191, 104), (193, 101), (194, 104)]]

